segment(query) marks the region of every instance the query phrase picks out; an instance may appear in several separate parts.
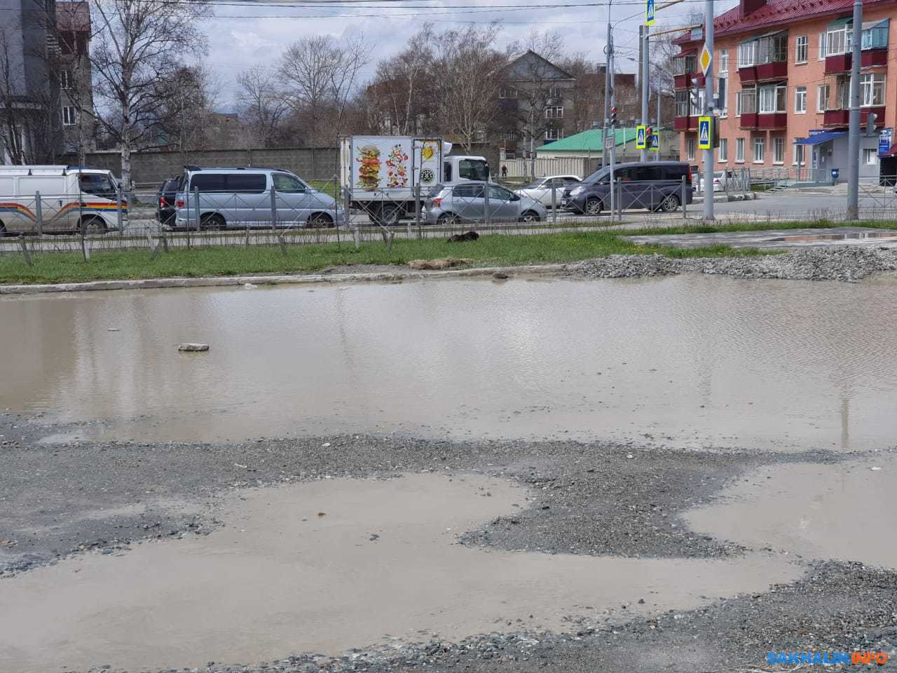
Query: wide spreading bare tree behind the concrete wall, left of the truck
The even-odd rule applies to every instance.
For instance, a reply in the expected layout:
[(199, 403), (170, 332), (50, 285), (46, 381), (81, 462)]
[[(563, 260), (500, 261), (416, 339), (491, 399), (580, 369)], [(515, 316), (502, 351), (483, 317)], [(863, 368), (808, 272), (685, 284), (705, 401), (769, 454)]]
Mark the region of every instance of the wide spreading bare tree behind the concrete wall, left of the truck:
[(327, 35), (301, 38), (283, 52), (279, 73), (286, 100), (307, 143), (333, 144), (342, 133), (346, 107), (369, 53), (362, 34), (340, 40)]

